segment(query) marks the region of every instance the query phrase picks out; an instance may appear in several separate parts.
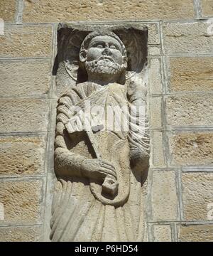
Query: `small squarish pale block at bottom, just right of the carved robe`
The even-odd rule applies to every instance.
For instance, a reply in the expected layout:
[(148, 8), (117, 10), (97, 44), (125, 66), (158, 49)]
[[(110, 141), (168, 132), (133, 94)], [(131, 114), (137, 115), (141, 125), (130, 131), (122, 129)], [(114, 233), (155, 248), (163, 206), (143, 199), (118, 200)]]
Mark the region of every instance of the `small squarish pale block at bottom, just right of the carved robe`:
[(154, 225), (154, 242), (171, 242), (172, 241), (172, 231), (170, 225)]

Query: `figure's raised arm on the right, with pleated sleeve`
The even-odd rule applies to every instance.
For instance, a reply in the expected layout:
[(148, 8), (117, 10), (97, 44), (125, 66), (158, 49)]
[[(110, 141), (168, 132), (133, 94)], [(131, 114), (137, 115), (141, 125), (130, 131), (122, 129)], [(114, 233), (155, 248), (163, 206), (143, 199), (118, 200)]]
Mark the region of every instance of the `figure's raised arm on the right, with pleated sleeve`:
[(148, 168), (150, 138), (148, 129), (148, 117), (146, 110), (145, 83), (141, 78), (132, 80), (127, 88), (130, 111), (129, 146), (131, 164), (134, 168)]

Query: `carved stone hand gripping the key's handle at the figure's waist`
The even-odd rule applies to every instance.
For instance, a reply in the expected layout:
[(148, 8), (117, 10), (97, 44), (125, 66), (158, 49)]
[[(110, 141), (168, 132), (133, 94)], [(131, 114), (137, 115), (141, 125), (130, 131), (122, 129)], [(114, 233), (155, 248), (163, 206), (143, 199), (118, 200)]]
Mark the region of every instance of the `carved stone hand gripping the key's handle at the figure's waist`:
[(85, 159), (82, 162), (82, 174), (88, 178), (104, 180), (106, 176), (116, 179), (116, 171), (112, 164), (102, 159)]

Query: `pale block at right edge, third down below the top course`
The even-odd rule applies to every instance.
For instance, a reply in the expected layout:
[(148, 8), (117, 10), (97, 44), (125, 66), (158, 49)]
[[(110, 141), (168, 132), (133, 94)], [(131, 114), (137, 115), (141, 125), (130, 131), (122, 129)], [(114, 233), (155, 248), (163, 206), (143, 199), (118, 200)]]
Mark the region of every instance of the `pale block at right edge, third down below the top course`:
[(166, 99), (168, 125), (187, 126), (213, 124), (213, 95), (177, 95)]

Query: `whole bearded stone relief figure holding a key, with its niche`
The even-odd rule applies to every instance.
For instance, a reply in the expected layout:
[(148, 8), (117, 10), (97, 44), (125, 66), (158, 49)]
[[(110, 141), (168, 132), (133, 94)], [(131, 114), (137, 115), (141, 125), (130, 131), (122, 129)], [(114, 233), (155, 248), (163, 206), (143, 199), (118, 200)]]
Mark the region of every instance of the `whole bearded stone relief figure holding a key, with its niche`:
[[(146, 50), (130, 61), (121, 38), (136, 29), (112, 31), (64, 29), (59, 41), (57, 85), (67, 91), (57, 108), (53, 241), (144, 239)], [(146, 48), (146, 28), (138, 35)]]

